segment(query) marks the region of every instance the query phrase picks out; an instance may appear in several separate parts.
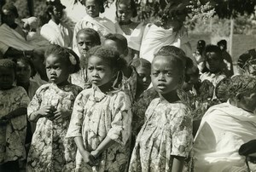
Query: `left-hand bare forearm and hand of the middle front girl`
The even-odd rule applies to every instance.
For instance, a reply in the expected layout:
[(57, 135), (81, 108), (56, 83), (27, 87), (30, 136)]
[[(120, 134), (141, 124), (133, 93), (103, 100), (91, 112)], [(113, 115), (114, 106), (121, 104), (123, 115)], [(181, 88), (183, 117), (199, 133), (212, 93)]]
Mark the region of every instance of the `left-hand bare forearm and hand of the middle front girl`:
[(79, 148), (79, 152), (82, 155), (84, 162), (88, 163), (90, 166), (96, 165), (96, 159), (94, 158), (94, 156), (92, 156), (90, 152), (85, 150), (83, 138), (81, 136), (78, 136), (74, 138), (74, 141)]

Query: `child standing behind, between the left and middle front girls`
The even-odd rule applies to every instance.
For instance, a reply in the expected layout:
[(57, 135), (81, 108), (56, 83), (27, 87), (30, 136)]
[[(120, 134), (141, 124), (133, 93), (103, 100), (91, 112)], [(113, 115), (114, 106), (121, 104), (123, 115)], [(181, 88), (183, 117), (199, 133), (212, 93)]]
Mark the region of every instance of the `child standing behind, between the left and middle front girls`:
[[(77, 34), (78, 53), (81, 59), (82, 66), (87, 66), (86, 54), (88, 50), (96, 45), (101, 45), (101, 38), (95, 30), (91, 28), (81, 29)], [(83, 89), (88, 86), (87, 68), (81, 68), (79, 72), (73, 73), (71, 83), (79, 85)]]

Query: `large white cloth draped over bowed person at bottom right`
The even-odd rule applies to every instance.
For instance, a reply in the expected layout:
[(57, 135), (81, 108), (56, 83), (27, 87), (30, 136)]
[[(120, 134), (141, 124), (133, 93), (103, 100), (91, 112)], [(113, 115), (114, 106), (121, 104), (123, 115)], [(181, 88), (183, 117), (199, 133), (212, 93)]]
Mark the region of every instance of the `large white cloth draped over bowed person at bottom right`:
[(256, 115), (229, 102), (212, 106), (195, 135), (195, 172), (246, 171), (238, 150), (255, 135)]

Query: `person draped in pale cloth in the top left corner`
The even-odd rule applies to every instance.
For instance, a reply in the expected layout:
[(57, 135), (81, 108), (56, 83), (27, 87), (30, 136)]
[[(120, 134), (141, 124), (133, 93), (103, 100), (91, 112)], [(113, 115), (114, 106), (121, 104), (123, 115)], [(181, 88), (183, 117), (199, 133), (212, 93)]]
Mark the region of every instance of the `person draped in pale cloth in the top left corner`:
[(31, 55), (34, 46), (26, 42), (26, 34), (15, 23), (19, 17), (18, 10), (13, 3), (6, 3), (2, 8), (3, 24), (0, 26), (0, 59)]

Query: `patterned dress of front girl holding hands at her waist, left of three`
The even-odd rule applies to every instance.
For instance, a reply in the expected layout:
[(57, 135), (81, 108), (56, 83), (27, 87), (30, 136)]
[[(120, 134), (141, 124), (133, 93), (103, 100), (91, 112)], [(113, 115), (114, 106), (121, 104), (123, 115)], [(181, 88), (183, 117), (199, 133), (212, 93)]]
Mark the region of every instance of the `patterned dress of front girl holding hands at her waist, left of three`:
[[(57, 87), (53, 83), (41, 86), (27, 108), (27, 114), (42, 106), (55, 106), (72, 111), (73, 103), (82, 89), (73, 84)], [(27, 158), (27, 171), (73, 171), (76, 146), (65, 138), (70, 117), (39, 118)]]

